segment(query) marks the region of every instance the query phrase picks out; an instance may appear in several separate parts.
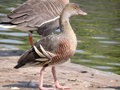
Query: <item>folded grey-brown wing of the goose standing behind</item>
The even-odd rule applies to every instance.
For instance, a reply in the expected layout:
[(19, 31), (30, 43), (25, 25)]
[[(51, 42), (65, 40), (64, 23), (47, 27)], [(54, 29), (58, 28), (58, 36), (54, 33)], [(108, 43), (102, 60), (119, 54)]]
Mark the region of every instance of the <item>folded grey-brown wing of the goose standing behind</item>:
[[(64, 5), (57, 0), (29, 0), (14, 9), (8, 17), (11, 23), (40, 27), (42, 23), (58, 17)], [(33, 24), (32, 24), (33, 23)]]

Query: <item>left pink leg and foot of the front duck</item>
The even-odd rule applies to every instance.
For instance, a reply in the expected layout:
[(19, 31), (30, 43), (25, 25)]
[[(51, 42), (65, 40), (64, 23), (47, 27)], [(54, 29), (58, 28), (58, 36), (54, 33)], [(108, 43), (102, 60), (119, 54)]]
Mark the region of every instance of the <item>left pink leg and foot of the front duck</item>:
[(44, 88), (43, 87), (43, 74), (44, 74), (44, 71), (45, 71), (45, 67), (43, 67), (40, 71), (40, 82), (39, 82), (39, 89), (40, 90), (54, 90), (52, 88)]

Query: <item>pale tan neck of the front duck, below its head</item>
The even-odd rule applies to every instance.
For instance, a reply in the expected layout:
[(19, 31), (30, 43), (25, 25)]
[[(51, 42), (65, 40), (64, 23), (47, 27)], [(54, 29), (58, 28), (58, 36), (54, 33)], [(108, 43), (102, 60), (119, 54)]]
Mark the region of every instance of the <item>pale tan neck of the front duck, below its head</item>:
[(71, 44), (71, 50), (75, 51), (76, 46), (77, 46), (77, 38), (76, 34), (74, 33), (70, 22), (69, 22), (69, 17), (70, 14), (66, 11), (62, 12), (60, 16), (60, 30), (61, 30), (61, 36), (67, 38)]

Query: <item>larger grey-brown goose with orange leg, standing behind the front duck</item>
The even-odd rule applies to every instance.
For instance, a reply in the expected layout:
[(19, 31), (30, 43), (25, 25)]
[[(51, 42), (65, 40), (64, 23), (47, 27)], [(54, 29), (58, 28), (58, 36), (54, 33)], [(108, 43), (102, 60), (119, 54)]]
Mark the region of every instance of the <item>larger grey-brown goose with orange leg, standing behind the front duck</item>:
[(47, 36), (59, 28), (59, 17), (69, 0), (28, 0), (5, 18), (0, 27), (26, 31), (32, 45), (32, 32)]

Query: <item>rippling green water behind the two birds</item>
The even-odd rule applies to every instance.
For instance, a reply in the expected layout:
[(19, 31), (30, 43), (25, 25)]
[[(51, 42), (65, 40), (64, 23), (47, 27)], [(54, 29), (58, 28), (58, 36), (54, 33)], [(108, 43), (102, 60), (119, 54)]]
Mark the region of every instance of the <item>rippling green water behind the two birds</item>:
[[(0, 17), (6, 16), (26, 0), (0, 0)], [(71, 0), (88, 13), (73, 16), (71, 25), (78, 38), (72, 63), (120, 75), (120, 0)], [(59, 33), (59, 30), (54, 32)], [(34, 43), (39, 40), (36, 32)], [(26, 32), (0, 28), (0, 48), (31, 46)]]

